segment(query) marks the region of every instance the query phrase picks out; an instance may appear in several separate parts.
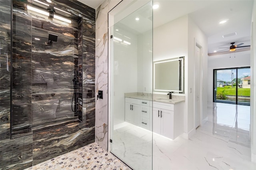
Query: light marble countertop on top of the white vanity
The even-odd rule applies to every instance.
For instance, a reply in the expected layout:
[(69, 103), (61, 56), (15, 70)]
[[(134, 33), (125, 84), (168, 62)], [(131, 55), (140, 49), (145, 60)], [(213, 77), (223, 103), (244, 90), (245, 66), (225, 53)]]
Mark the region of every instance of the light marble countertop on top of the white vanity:
[(125, 97), (132, 98), (132, 99), (140, 99), (140, 100), (147, 100), (147, 101), (156, 101), (156, 102), (161, 102), (161, 103), (170, 103), (170, 104), (176, 104), (185, 101), (184, 99), (168, 99), (165, 97), (159, 97), (156, 96), (152, 99), (152, 95), (138, 95), (138, 94), (126, 94)]

